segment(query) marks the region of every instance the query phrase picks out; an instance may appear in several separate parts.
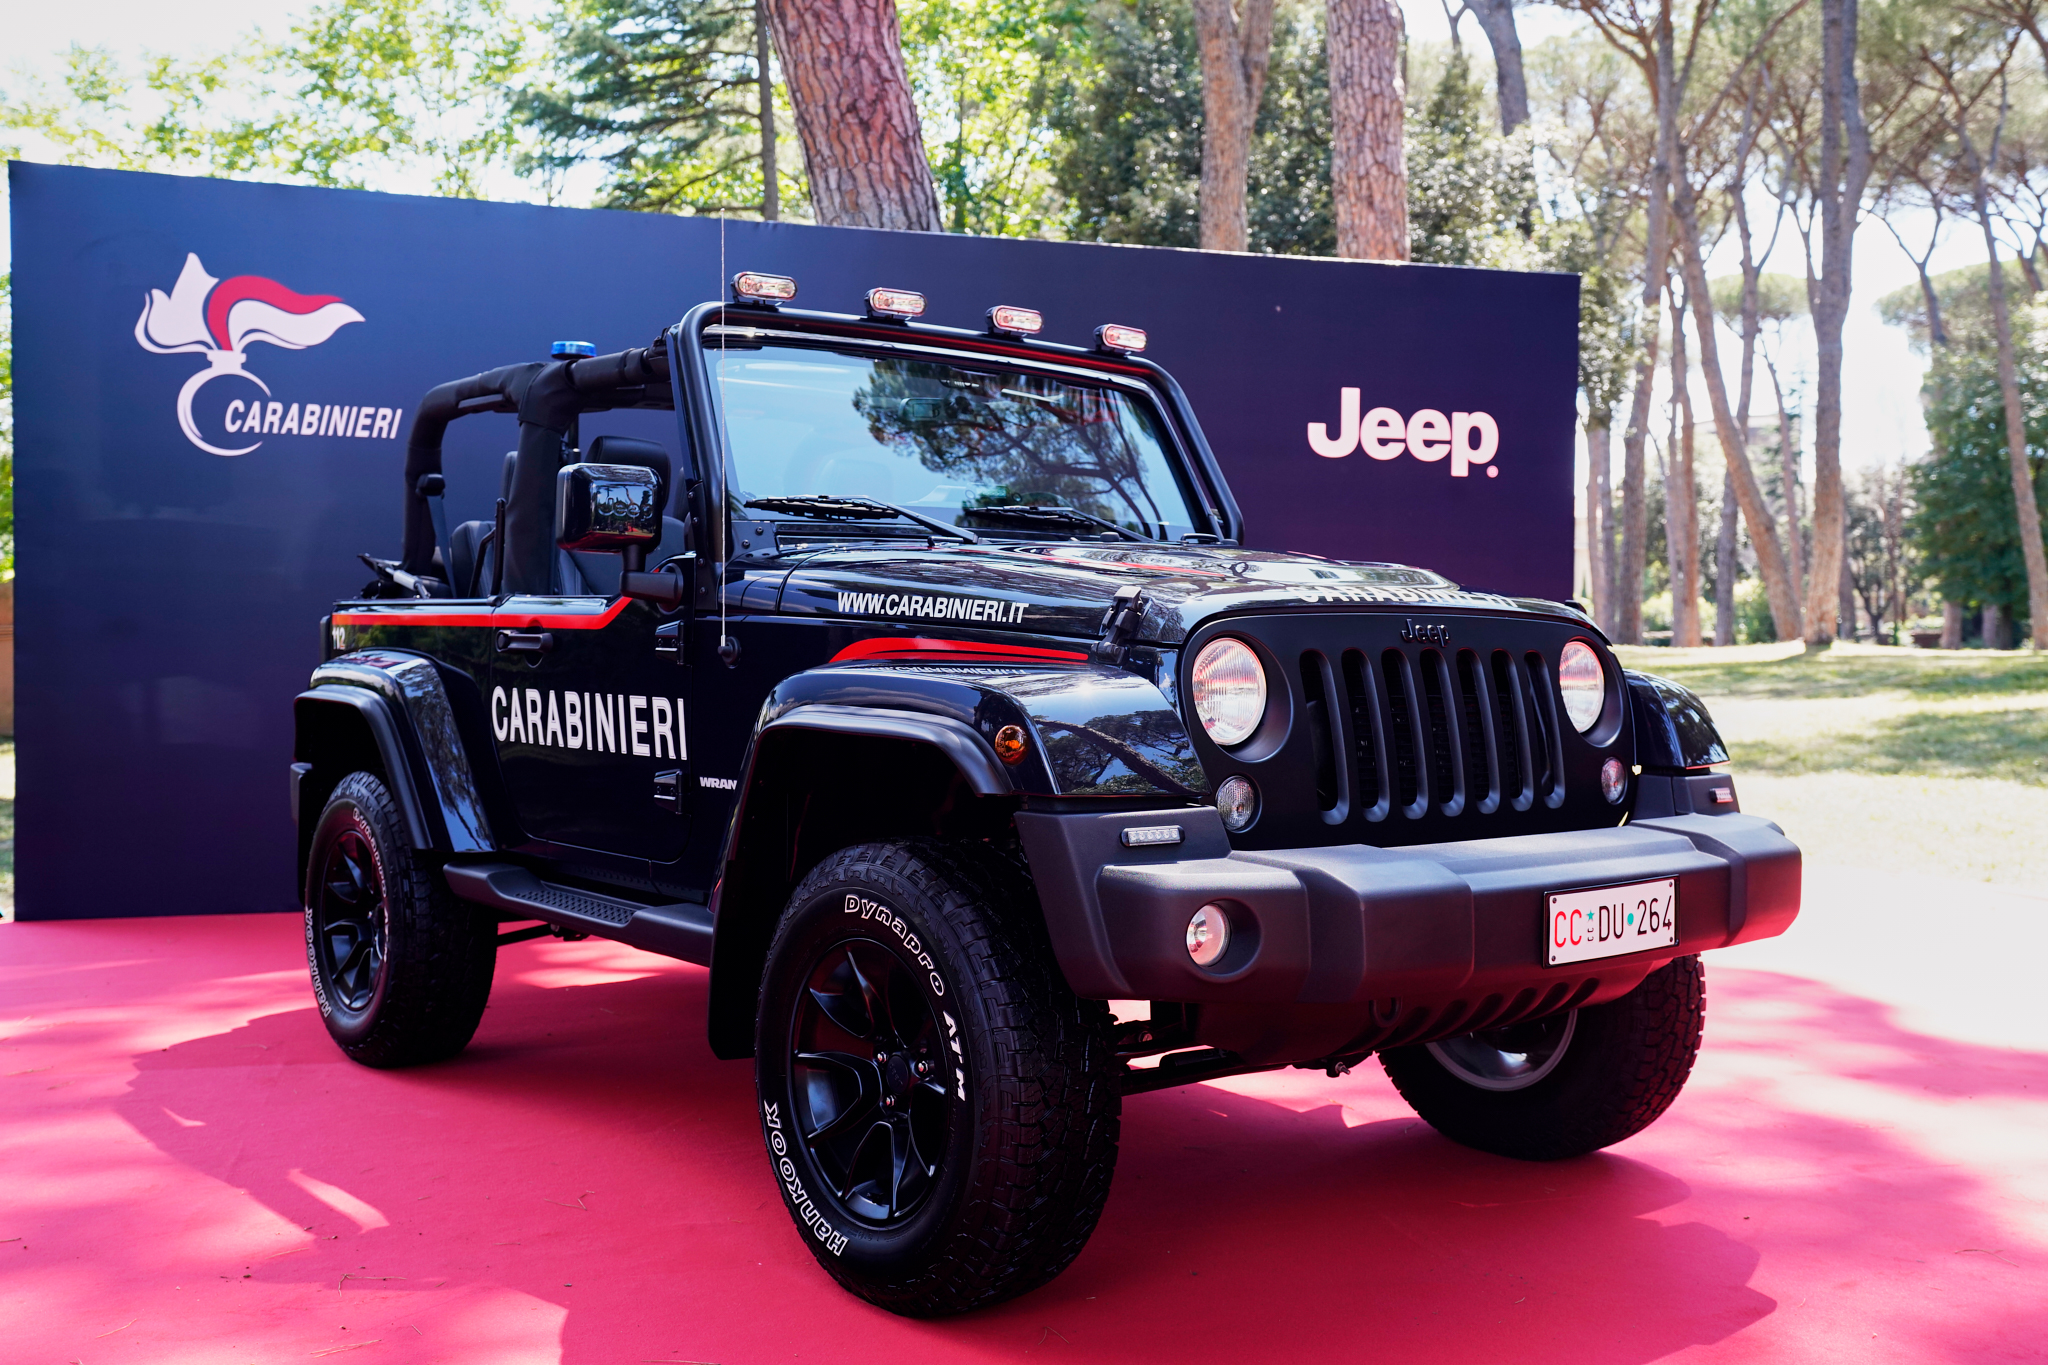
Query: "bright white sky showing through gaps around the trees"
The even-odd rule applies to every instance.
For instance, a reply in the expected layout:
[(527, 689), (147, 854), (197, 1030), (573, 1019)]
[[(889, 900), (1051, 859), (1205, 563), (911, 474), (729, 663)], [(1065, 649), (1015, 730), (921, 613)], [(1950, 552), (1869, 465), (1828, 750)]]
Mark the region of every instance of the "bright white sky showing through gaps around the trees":
[[(528, 0), (532, 8), (539, 8), (539, 2)], [(256, 25), (281, 33), (305, 8), (276, 0), (209, 0), (207, 4), (164, 4), (164, 0), (29, 4), (27, 0), (10, 0), (4, 20), (6, 47), (0, 55), (0, 84), (16, 86), (23, 74), (53, 80), (61, 70), (61, 53), (72, 43), (102, 45), (127, 57), (139, 57), (143, 51), (215, 53), (233, 47)], [(1403, 8), (1413, 39), (1442, 43), (1448, 37), (1450, 29), (1440, 0), (1403, 0)], [(1530, 45), (1548, 35), (1565, 33), (1575, 23), (1563, 10), (1546, 6), (1530, 6), (1520, 14), (1524, 43)], [(1485, 51), (1477, 23), (1464, 23), (1462, 37), (1475, 53)], [(1786, 233), (1780, 256), (1767, 268), (1800, 274), (1796, 252), (1796, 237)], [(10, 252), (0, 252), (0, 268), (4, 268), (6, 256)], [(1937, 252), (1935, 268), (1946, 270), (1976, 260), (1982, 260), (1980, 239), (1968, 229), (1958, 229)], [(1722, 250), (1712, 260), (1710, 272), (1733, 270), (1733, 250)], [(1878, 223), (1866, 223), (1855, 244), (1855, 301), (1843, 338), (1843, 463), (1849, 467), (1888, 465), (1913, 458), (1927, 448), (1919, 407), (1925, 360), (1909, 350), (1901, 332), (1886, 327), (1876, 317), (1876, 299), (1913, 284), (1913, 264), (1890, 233)], [(1788, 352), (1794, 368), (1810, 370), (1810, 334), (1794, 332), (1788, 336)], [(1726, 362), (1733, 370), (1733, 356)], [(1698, 389), (1698, 381), (1694, 387)], [(1704, 393), (1700, 393), (1696, 407), (1704, 420)], [(1702, 436), (1706, 434), (1702, 432)]]

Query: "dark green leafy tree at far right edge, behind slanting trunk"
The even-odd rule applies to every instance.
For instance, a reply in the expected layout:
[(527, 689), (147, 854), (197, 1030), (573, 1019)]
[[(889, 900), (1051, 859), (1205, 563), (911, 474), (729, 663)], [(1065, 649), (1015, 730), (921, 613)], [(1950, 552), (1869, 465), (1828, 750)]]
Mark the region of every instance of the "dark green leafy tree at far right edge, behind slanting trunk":
[[(2048, 311), (2013, 309), (2013, 348), (2034, 495), (2042, 501), (2048, 495), (2042, 456), (2048, 448)], [(1944, 346), (1927, 370), (1923, 395), (1933, 450), (1913, 469), (1913, 538), (1925, 571), (1950, 602), (1991, 602), (2019, 616), (2028, 577), (1995, 350)]]

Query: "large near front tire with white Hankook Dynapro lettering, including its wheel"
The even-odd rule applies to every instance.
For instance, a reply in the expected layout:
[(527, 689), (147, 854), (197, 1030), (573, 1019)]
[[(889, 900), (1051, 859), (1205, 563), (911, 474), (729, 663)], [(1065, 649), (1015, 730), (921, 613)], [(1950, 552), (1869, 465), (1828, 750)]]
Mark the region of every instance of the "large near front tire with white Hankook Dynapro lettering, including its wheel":
[(864, 843), (803, 880), (762, 976), (756, 1085), (805, 1246), (897, 1314), (1042, 1285), (1110, 1191), (1108, 1007), (1073, 997), (1028, 878), (985, 849)]

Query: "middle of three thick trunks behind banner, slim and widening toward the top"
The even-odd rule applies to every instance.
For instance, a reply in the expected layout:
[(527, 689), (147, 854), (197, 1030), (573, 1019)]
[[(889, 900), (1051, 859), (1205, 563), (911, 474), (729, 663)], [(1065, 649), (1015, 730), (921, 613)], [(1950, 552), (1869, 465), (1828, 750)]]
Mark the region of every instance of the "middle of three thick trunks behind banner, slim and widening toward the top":
[(1251, 125), (1266, 98), (1274, 0), (1194, 0), (1194, 33), (1202, 49), (1202, 248), (1243, 252), (1251, 244)]

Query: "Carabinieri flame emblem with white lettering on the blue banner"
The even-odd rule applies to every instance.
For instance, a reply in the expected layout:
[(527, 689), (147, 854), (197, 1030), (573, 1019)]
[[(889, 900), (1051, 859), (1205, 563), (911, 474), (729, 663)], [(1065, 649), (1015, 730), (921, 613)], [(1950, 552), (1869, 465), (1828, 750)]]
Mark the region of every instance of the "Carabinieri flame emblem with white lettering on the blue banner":
[[(248, 348), (256, 342), (305, 350), (319, 346), (352, 321), (362, 321), (334, 295), (301, 295), (260, 274), (238, 274), (217, 280), (186, 252), (184, 270), (166, 295), (152, 289), (135, 319), (135, 340), (160, 356), (199, 352), (207, 368), (195, 372), (178, 389), (178, 428), (184, 438), (207, 454), (248, 454), (262, 436), (360, 436), (395, 440), (401, 407), (371, 407), (360, 403), (285, 403), (270, 397), (270, 385), (248, 372)], [(195, 415), (195, 401), (215, 379), (238, 379), (256, 393), (231, 397), (215, 415)], [(240, 385), (238, 385), (240, 387)], [(203, 428), (217, 426), (227, 436), (248, 444), (213, 444)], [(223, 436), (225, 440), (225, 436)]]

